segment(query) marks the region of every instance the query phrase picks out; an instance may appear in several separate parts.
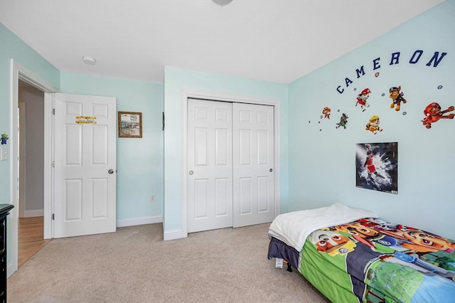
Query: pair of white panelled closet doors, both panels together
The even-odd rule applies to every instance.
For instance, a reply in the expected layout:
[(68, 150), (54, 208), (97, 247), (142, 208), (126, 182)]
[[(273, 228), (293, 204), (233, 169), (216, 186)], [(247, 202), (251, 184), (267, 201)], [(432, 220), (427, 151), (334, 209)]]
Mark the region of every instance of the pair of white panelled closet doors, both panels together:
[(188, 233), (274, 218), (274, 107), (188, 99)]

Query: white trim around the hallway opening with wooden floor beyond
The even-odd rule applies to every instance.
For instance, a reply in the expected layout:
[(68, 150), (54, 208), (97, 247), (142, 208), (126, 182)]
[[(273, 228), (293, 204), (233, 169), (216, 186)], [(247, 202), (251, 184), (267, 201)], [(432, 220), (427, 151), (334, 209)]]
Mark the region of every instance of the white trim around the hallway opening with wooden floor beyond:
[[(9, 256), (7, 263), (7, 277), (11, 277), (11, 275), (16, 272), (18, 268), (18, 186), (17, 186), (17, 178), (18, 178), (18, 144), (17, 144), (17, 136), (16, 132), (13, 132), (14, 129), (18, 127), (18, 81), (22, 80), (25, 83), (32, 85), (33, 87), (38, 88), (43, 92), (58, 92), (58, 88), (54, 87), (48, 81), (44, 80), (40, 76), (33, 73), (28, 68), (24, 67), (16, 60), (11, 59), (11, 68), (10, 68), (10, 133), (14, 136), (10, 137), (10, 144), (11, 144), (11, 158), (10, 158), (10, 203), (14, 206), (14, 208), (10, 212), (9, 216)], [(44, 109), (46, 110), (46, 102), (44, 104)], [(46, 123), (46, 120), (45, 120)], [(50, 127), (46, 127), (44, 129), (44, 164), (50, 163), (48, 157), (50, 158), (51, 148), (50, 145), (46, 144), (46, 139), (52, 137), (52, 133), (48, 133)], [(50, 160), (52, 161), (52, 160)], [(49, 225), (50, 225), (50, 217), (47, 214), (47, 208), (51, 205), (52, 201), (50, 196), (46, 196), (48, 193), (48, 186), (50, 182), (48, 179), (51, 178), (51, 175), (48, 174), (48, 171), (45, 168), (44, 174), (44, 209), (46, 212), (44, 213), (44, 238), (49, 238)]]

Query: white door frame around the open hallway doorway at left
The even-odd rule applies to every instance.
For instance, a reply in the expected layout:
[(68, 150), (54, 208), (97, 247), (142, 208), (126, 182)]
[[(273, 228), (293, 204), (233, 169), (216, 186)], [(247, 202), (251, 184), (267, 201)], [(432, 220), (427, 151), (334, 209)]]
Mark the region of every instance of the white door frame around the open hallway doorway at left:
[(13, 275), (18, 268), (18, 81), (22, 80), (44, 94), (44, 238), (52, 238), (52, 96), (58, 88), (40, 76), (24, 67), (16, 60), (11, 59), (10, 76), (10, 201), (14, 208), (9, 216), (9, 252), (7, 263), (7, 277)]

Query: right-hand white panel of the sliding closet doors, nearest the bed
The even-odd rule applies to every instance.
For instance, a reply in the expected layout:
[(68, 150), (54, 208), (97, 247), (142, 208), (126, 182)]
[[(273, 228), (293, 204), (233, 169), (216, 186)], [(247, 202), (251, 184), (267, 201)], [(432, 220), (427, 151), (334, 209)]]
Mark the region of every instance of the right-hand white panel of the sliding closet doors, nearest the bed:
[(274, 218), (274, 107), (234, 103), (233, 226)]

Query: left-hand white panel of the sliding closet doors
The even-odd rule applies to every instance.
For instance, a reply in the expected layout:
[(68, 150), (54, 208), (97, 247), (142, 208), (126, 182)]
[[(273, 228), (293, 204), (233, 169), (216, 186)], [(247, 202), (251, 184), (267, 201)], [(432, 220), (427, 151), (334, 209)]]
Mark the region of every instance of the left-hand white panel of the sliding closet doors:
[(232, 105), (188, 100), (188, 233), (232, 226)]

